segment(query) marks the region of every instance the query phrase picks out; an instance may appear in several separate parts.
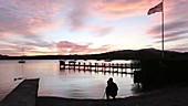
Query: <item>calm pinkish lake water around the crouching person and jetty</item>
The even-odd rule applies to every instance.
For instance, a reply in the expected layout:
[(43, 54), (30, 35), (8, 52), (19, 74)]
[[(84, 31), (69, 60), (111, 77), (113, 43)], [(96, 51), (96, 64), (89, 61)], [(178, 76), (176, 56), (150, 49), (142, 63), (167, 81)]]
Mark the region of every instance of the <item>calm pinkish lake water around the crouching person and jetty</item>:
[(22, 80), (14, 81), (17, 77), (39, 77), (39, 96), (100, 99), (103, 98), (108, 77), (113, 77), (119, 87), (117, 97), (136, 95), (133, 91), (134, 84), (130, 75), (72, 70), (60, 71), (58, 60), (30, 60), (24, 64), (19, 64), (18, 61), (0, 61), (0, 100), (22, 82)]

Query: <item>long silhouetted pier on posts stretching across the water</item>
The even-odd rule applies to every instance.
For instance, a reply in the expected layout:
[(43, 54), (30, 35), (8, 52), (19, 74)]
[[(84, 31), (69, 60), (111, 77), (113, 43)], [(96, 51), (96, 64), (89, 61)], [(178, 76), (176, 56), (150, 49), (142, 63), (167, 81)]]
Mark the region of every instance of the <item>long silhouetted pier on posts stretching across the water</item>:
[[(130, 68), (132, 72), (127, 72)], [(77, 70), (77, 71), (94, 71), (104, 73), (119, 73), (119, 74), (133, 74), (134, 70), (138, 68), (136, 64), (126, 63), (92, 63), (92, 62), (75, 62), (75, 61), (60, 61), (60, 70)]]

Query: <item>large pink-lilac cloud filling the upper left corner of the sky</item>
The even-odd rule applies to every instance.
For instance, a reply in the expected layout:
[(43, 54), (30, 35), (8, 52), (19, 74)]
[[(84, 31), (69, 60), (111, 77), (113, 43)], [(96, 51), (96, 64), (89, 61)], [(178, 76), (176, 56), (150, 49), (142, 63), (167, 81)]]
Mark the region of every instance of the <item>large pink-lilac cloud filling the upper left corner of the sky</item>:
[[(55, 11), (58, 2), (46, 0), (1, 0), (0, 1), (0, 33), (1, 36), (12, 34), (35, 33), (53, 30), (61, 25)], [(3, 28), (2, 28), (3, 26)]]

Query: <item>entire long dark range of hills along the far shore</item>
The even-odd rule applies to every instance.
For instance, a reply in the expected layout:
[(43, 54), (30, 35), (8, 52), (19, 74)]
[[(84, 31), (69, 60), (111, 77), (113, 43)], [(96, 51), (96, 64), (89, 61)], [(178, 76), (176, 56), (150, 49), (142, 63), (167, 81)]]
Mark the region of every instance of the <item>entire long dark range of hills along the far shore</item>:
[[(179, 53), (174, 51), (165, 51), (165, 57), (168, 60), (188, 60), (188, 52)], [(0, 55), (0, 60), (20, 60), (21, 56)], [(25, 60), (154, 60), (161, 59), (161, 51), (156, 49), (143, 50), (121, 50), (111, 51), (101, 54), (85, 55), (36, 55), (24, 56)]]

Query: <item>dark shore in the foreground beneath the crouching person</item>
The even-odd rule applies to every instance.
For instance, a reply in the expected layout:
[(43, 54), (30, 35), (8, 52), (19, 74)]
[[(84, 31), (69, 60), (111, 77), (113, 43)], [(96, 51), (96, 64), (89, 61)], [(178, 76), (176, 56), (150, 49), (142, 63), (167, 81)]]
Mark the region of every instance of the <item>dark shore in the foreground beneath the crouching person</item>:
[(188, 86), (170, 86), (116, 100), (39, 97), (38, 106), (188, 106)]

